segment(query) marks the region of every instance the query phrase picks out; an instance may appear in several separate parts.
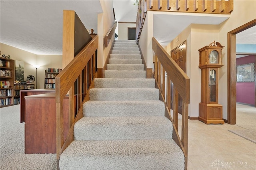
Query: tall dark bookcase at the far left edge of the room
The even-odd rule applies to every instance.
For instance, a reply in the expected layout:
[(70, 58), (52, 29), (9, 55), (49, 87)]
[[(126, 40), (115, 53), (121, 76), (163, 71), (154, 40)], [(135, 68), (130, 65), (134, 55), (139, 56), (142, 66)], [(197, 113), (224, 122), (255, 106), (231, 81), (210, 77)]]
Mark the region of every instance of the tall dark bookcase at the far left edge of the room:
[(0, 107), (14, 105), (14, 60), (0, 57), (1, 59), (1, 82), (0, 82)]

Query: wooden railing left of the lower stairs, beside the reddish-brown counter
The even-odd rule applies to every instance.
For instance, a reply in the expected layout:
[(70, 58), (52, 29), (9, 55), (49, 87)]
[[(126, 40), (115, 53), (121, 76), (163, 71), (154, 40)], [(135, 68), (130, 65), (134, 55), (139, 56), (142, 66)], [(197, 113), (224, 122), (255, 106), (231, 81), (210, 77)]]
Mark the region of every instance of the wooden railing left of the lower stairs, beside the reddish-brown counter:
[[(56, 83), (56, 153), (57, 153), (57, 159), (59, 159), (61, 152), (63, 151), (64, 146), (64, 138), (63, 138), (63, 99), (66, 96), (66, 94), (70, 94), (69, 96), (70, 104), (70, 123), (74, 123), (74, 98), (72, 95), (74, 95), (74, 82), (80, 77), (82, 70), (88, 69), (88, 62), (92, 64), (91, 59), (94, 55), (96, 49), (98, 48), (98, 36), (95, 36), (94, 39), (74, 57), (74, 59), (66, 65), (64, 69), (56, 76), (55, 83)], [(82, 64), (81, 64), (82, 63)], [(90, 69), (91, 70), (91, 69)], [(87, 73), (86, 73), (87, 74)], [(93, 75), (95, 73), (91, 73), (88, 75), (88, 77), (91, 76), (91, 78), (88, 81), (92, 81)], [(88, 82), (88, 83), (90, 83)], [(81, 86), (79, 86), (81, 87)], [(79, 88), (78, 87), (78, 88)], [(84, 87), (85, 89), (87, 87)], [(78, 90), (81, 93), (81, 90)], [(81, 94), (79, 94), (81, 95)], [(81, 106), (81, 105), (80, 105)], [(82, 107), (78, 109), (81, 110)], [(70, 129), (73, 133), (73, 129)], [(72, 133), (69, 131), (69, 134)], [(72, 140), (72, 137), (69, 136), (67, 139)], [(65, 142), (66, 143), (66, 142)]]

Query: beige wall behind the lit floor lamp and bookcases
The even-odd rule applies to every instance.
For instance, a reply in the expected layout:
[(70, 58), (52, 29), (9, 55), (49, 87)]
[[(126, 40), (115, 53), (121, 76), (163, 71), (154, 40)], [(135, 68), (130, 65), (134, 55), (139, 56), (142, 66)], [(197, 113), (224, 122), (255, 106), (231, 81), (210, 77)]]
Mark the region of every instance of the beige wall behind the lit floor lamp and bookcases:
[(22, 49), (1, 43), (2, 55), (10, 55), (11, 59), (24, 62), (24, 79), (28, 75), (36, 77), (36, 69), (33, 65), (40, 65), (37, 70), (38, 89), (44, 89), (44, 71), (47, 68), (62, 68), (62, 55), (36, 55)]

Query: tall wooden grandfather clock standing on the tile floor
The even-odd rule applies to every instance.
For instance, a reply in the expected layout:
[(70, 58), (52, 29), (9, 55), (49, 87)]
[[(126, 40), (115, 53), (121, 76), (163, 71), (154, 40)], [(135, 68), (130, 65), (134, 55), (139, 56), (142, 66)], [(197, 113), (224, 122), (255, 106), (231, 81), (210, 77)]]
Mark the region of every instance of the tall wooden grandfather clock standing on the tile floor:
[(198, 120), (206, 124), (224, 124), (222, 105), (218, 104), (219, 68), (222, 67), (222, 46), (212, 42), (199, 51), (199, 68), (201, 69), (201, 103), (199, 103)]

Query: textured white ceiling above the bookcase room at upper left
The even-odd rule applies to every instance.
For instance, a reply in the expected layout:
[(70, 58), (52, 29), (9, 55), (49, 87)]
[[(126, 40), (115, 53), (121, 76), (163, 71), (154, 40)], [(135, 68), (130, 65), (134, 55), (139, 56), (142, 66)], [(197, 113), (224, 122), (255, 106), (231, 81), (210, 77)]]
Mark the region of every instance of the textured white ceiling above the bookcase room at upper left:
[(62, 55), (63, 10), (74, 10), (89, 30), (97, 30), (97, 14), (102, 13), (99, 0), (1, 0), (0, 3), (1, 43), (37, 55)]

